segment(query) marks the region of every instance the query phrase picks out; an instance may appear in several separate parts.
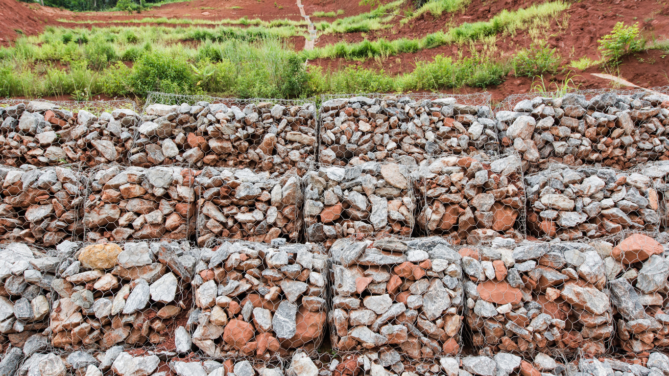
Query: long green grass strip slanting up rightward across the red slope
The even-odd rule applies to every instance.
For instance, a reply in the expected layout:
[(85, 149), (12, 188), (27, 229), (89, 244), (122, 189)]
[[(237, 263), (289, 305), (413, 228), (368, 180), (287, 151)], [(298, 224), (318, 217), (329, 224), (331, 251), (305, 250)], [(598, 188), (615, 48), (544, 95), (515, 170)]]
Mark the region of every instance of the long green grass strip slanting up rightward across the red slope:
[(569, 4), (561, 0), (532, 5), (518, 11), (502, 11), (486, 22), (463, 23), (448, 31), (437, 31), (425, 35), (420, 39), (400, 38), (388, 41), (365, 39), (359, 43), (339, 42), (322, 48), (314, 48), (304, 54), (310, 59), (316, 58), (346, 58), (351, 60), (365, 60), (369, 58), (387, 58), (402, 53), (412, 53), (440, 45), (479, 41), (490, 35), (513, 35), (517, 29), (530, 29), (535, 23), (545, 23), (554, 19), (562, 11), (569, 8)]

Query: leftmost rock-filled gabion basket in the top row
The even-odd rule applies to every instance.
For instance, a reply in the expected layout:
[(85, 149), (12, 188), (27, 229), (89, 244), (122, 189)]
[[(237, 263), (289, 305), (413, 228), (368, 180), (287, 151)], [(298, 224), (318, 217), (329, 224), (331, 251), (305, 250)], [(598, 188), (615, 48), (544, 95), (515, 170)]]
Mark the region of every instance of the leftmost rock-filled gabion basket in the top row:
[(3, 164), (12, 166), (124, 161), (139, 117), (131, 100), (3, 104), (9, 106), (0, 107), (0, 154)]

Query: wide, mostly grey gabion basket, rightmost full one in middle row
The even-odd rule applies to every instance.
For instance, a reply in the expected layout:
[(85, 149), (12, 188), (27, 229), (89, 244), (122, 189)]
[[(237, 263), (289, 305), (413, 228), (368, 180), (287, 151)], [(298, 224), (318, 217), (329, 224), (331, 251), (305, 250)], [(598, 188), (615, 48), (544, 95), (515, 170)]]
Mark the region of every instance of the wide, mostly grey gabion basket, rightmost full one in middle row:
[(642, 173), (551, 164), (525, 177), (529, 235), (600, 238), (623, 229), (657, 231), (658, 193)]

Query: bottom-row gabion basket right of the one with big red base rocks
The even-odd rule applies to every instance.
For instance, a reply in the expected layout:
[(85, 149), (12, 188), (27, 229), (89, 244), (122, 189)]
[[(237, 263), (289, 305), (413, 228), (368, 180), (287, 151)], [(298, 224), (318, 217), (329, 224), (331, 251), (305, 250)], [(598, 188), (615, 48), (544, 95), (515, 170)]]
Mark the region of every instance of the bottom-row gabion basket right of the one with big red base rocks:
[(330, 257), (333, 349), (363, 353), (385, 347), (382, 359), (397, 361), (399, 353), (411, 359), (460, 353), (462, 270), (460, 255), (446, 240), (343, 238), (334, 242)]

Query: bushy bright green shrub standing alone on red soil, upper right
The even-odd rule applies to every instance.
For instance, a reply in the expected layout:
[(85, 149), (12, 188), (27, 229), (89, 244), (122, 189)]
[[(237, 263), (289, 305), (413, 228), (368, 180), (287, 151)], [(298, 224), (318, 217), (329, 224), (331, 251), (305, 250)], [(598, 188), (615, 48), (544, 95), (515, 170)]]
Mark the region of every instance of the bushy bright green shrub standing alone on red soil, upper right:
[(611, 33), (599, 39), (599, 44), (599, 51), (604, 60), (617, 65), (627, 54), (643, 50), (646, 40), (641, 35), (638, 22), (632, 26), (618, 22)]

